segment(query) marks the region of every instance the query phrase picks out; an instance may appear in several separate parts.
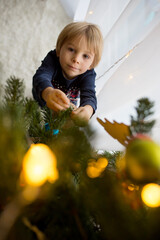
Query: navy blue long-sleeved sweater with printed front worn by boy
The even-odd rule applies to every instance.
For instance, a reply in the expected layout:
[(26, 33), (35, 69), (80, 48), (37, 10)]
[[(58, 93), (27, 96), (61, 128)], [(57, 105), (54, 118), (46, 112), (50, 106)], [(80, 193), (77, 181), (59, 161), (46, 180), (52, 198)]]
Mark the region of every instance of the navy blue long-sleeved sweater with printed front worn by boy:
[(46, 103), (42, 99), (42, 91), (47, 87), (58, 88), (75, 105), (80, 97), (80, 106), (90, 105), (95, 112), (97, 108), (95, 77), (96, 73), (94, 69), (91, 69), (72, 80), (66, 79), (63, 76), (56, 50), (50, 51), (33, 76), (33, 97), (43, 107)]

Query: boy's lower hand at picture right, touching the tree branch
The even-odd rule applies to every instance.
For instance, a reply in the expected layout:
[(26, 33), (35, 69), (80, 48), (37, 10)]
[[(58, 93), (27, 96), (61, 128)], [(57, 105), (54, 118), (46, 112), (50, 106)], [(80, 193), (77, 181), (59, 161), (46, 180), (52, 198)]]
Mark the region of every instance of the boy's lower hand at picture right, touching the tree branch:
[(72, 111), (71, 118), (72, 120), (82, 126), (86, 125), (93, 114), (93, 108), (90, 105), (84, 107), (79, 107), (76, 110)]

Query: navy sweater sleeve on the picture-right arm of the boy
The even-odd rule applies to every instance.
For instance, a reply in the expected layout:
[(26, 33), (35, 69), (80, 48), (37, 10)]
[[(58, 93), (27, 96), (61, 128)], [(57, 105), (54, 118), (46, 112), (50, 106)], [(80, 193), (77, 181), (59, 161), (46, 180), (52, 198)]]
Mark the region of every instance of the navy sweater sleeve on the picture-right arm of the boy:
[(80, 81), (80, 106), (90, 105), (94, 113), (97, 109), (95, 78), (96, 73), (92, 69), (87, 71)]

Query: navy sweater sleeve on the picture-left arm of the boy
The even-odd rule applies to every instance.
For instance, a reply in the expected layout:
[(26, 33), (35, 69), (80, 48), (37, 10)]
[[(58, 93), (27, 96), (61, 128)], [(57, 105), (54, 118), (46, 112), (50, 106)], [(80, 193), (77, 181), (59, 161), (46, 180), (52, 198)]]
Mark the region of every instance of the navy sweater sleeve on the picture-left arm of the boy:
[(42, 99), (42, 91), (47, 87), (53, 87), (51, 81), (56, 71), (56, 52), (50, 51), (42, 61), (41, 66), (33, 76), (32, 94), (40, 106), (46, 103)]

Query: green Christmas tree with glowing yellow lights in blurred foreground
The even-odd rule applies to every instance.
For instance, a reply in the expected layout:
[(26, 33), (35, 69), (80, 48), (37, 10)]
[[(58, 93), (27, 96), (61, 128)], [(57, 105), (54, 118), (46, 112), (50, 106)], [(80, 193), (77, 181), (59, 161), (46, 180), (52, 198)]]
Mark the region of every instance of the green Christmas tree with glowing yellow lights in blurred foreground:
[(158, 239), (153, 102), (138, 101), (124, 152), (99, 154), (94, 132), (70, 119), (72, 109), (53, 116), (24, 87), (10, 77), (0, 105), (0, 240)]

